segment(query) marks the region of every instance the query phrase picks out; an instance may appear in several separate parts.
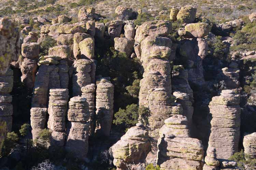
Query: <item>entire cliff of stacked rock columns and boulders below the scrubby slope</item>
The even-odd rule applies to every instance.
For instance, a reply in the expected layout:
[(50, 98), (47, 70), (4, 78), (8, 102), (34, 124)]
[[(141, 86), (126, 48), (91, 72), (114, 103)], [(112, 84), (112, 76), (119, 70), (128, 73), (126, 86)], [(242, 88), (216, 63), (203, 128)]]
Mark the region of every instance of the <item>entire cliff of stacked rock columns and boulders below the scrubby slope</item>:
[[(14, 24), (1, 18), (0, 147), (12, 131), (15, 115), (10, 93), (14, 84), (22, 83), (33, 89), (29, 107), (33, 141), (51, 153), (65, 149), (75, 162), (86, 162), (83, 166), (97, 161), (112, 166), (113, 161), (117, 170), (148, 164), (164, 170), (238, 169), (228, 159), (242, 145), (250, 157), (246, 156), (247, 161), (254, 159), (255, 129), (244, 133), (241, 117), (255, 112), (255, 67), (242, 62), (255, 58), (255, 51), (227, 58), (229, 46), (234, 46), (227, 39), (233, 37), (216, 37), (242, 29), (244, 22), (214, 26), (196, 12), (194, 6), (174, 7), (172, 22), (155, 19), (136, 26), (139, 20), (132, 19), (140, 12), (130, 7), (118, 6), (116, 20), (106, 23), (94, 8), (82, 7), (78, 22), (66, 15), (52, 24), (34, 18), (38, 24), (39, 20), (48, 24), (40, 23), (40, 38), (33, 28), (24, 28), (27, 36), (22, 45)], [(43, 42), (49, 38), (55, 45), (47, 44), (51, 47), (45, 50)], [(9, 64), (18, 56), (11, 64), (20, 70), (20, 81), (15, 82), (17, 75)], [(122, 72), (116, 66), (120, 63), (112, 61), (140, 67)], [(248, 68), (252, 76), (243, 77)], [(139, 87), (135, 80), (140, 81)], [(122, 108), (116, 108), (120, 103)], [(146, 115), (140, 113), (142, 108)], [(113, 120), (119, 124), (112, 125)], [(121, 132), (122, 128), (127, 131)], [(44, 129), (49, 139), (40, 141)]]

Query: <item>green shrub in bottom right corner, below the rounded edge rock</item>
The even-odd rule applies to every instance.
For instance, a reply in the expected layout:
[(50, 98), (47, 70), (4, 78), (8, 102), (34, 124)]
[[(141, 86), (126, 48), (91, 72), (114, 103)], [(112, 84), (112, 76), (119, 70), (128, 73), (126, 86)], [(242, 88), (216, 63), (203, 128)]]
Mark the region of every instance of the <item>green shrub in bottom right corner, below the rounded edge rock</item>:
[(243, 150), (234, 153), (229, 160), (234, 160), (237, 162), (238, 167), (241, 170), (245, 170), (245, 165), (248, 166), (246, 169), (251, 169), (256, 167), (256, 159), (251, 159), (249, 155), (246, 155)]

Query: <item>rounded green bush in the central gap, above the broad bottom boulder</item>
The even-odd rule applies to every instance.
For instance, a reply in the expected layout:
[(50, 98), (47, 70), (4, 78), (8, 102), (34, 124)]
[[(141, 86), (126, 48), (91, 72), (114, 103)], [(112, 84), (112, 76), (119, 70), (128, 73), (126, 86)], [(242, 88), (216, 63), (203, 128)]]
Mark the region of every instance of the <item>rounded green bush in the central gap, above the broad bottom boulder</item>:
[(113, 123), (116, 125), (123, 125), (126, 129), (138, 123), (138, 105), (131, 104), (127, 105), (126, 109), (119, 108), (119, 111), (115, 113), (115, 120)]

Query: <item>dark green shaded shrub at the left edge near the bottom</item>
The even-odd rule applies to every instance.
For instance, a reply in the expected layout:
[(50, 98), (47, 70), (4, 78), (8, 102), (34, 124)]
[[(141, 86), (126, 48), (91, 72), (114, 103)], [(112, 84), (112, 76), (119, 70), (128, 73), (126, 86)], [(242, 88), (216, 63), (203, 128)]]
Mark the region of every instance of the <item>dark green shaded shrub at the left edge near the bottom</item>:
[(11, 150), (15, 147), (15, 143), (19, 140), (18, 135), (15, 132), (7, 133), (6, 138), (4, 139), (2, 147), (2, 156), (7, 156)]

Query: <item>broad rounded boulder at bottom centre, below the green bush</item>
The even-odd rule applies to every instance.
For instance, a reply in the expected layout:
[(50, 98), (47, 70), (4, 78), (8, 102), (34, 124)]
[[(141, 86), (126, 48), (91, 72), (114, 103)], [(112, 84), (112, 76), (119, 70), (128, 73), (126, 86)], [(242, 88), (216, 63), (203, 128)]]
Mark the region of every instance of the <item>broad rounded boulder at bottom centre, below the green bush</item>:
[(143, 163), (149, 151), (148, 132), (141, 123), (137, 123), (112, 146), (114, 165), (119, 170), (127, 170), (125, 164)]

